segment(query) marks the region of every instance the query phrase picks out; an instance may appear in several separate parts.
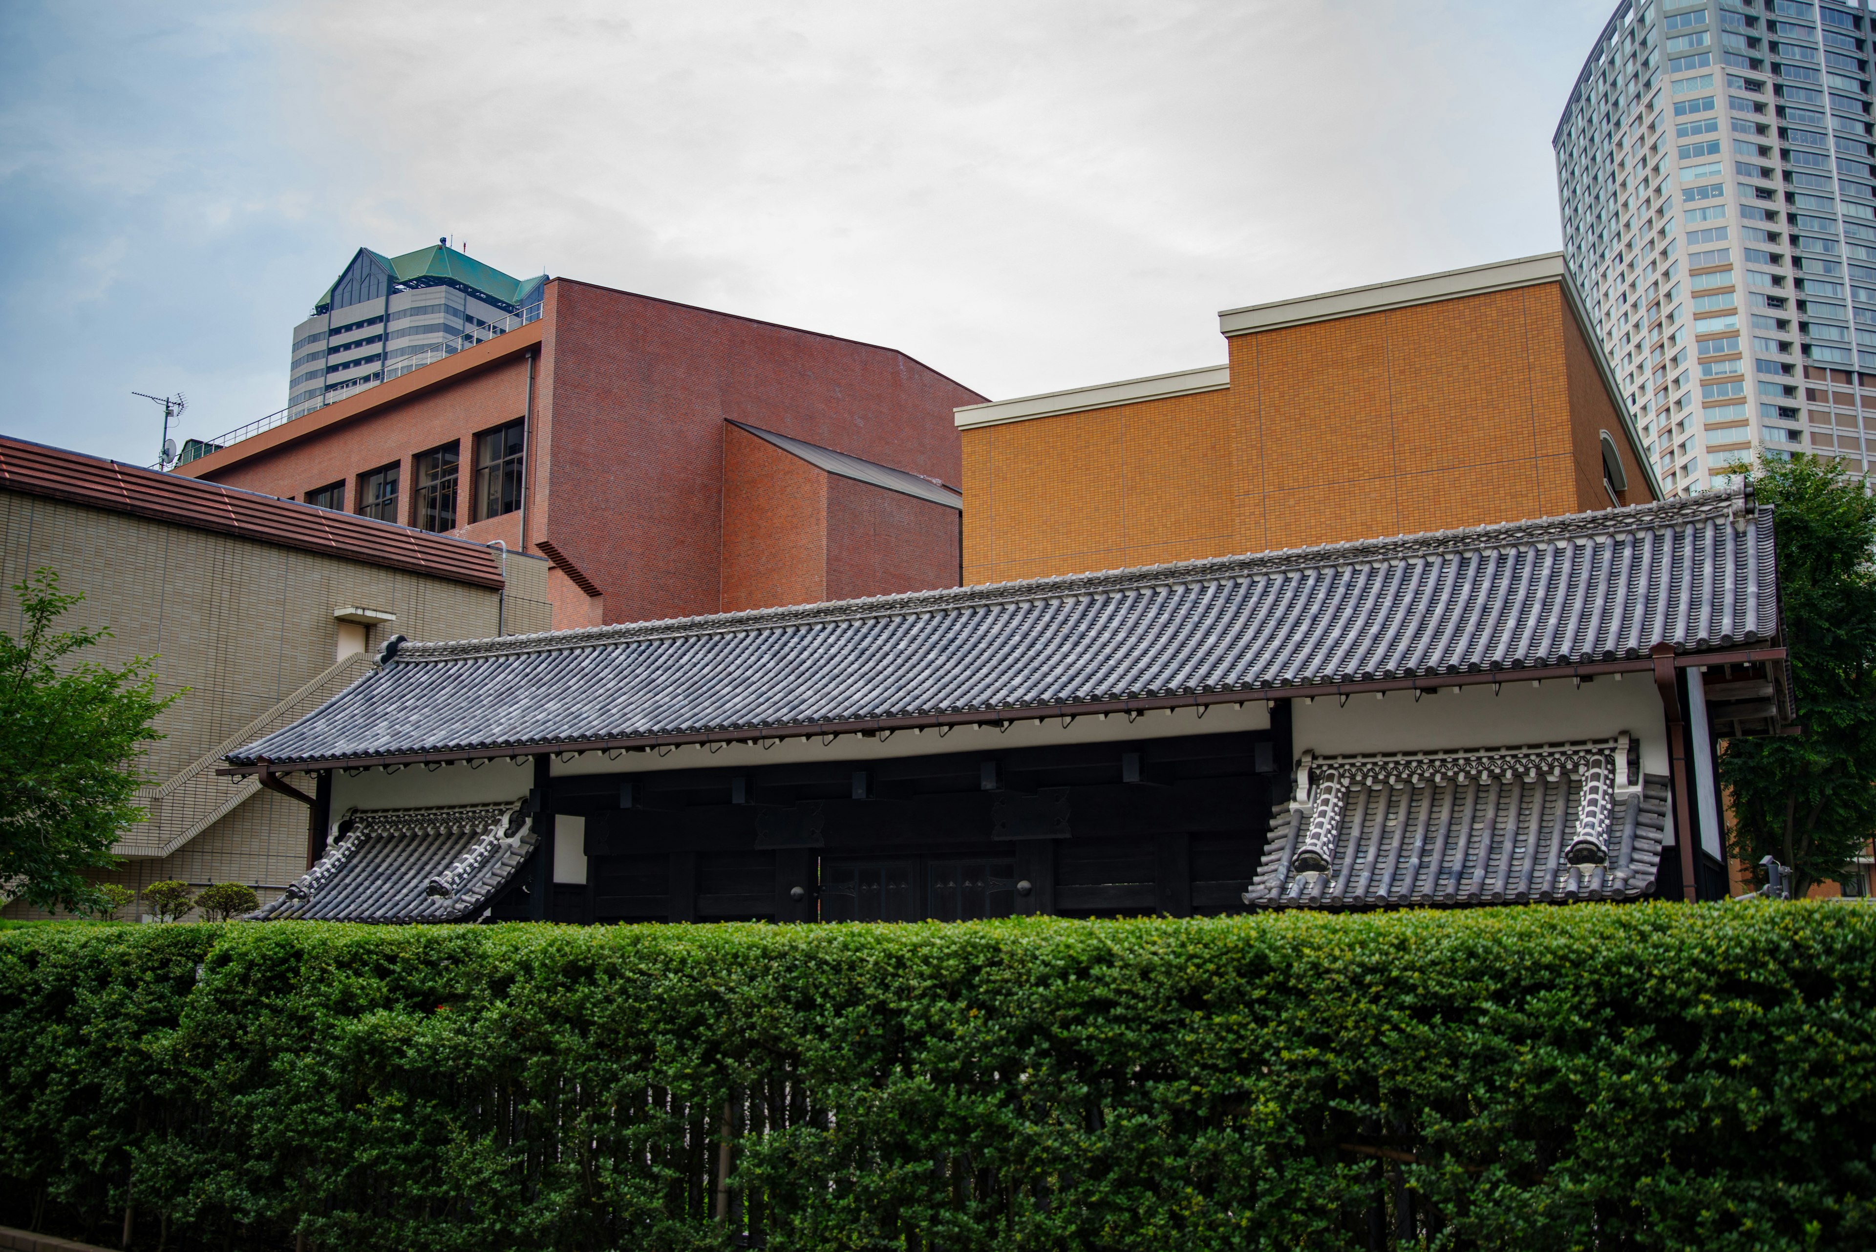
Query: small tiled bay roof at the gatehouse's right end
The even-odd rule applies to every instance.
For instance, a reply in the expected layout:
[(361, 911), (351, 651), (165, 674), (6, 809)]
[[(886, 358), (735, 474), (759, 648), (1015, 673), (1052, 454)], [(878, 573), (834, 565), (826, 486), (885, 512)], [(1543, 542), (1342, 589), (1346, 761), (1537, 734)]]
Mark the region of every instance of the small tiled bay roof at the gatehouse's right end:
[(1309, 760), (1308, 792), (1278, 805), (1246, 903), (1636, 899), (1655, 886), (1668, 779), (1634, 768), (1626, 736)]

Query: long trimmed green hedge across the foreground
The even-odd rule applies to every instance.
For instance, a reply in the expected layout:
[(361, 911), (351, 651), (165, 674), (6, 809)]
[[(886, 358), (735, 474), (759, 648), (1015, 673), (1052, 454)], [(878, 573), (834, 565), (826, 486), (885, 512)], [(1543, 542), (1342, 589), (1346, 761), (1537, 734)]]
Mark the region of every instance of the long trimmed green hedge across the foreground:
[(129, 1188), (143, 1248), (1870, 1248), (1872, 993), (1842, 903), (36, 927), (0, 935), (0, 1220), (114, 1246)]

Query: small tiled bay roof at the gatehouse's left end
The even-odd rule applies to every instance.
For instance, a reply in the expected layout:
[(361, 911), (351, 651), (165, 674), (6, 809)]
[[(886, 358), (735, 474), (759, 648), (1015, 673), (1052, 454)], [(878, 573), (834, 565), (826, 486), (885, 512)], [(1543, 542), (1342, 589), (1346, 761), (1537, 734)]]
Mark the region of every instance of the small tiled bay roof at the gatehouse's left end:
[(535, 847), (522, 802), (353, 809), (319, 863), (257, 922), (461, 922)]

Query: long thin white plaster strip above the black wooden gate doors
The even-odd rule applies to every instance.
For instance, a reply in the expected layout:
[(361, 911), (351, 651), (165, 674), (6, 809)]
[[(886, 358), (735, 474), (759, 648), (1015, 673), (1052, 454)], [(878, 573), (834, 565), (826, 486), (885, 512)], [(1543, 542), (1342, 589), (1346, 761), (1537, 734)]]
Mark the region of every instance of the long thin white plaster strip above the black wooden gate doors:
[[(700, 770), (705, 766), (779, 766), (814, 760), (878, 760), (891, 756), (936, 756), (940, 753), (989, 753), (1011, 747), (1047, 747), (1052, 743), (1109, 743), (1116, 740), (1167, 740), (1182, 734), (1225, 734), (1231, 730), (1268, 730), (1270, 710), (1263, 700), (1214, 704), (1199, 717), (1197, 710), (1152, 710), (1133, 723), (1126, 713), (1077, 717), (1062, 726), (1060, 717), (1019, 721), (1009, 730), (996, 726), (953, 726), (949, 734), (929, 730), (899, 730), (889, 738), (869, 740), (842, 734), (833, 743), (822, 736), (780, 740), (771, 747), (752, 743), (687, 743), (666, 753), (582, 753), (574, 760), (553, 760), (553, 777), (578, 773), (640, 773), (649, 770)], [(711, 751), (715, 747), (717, 751)]]

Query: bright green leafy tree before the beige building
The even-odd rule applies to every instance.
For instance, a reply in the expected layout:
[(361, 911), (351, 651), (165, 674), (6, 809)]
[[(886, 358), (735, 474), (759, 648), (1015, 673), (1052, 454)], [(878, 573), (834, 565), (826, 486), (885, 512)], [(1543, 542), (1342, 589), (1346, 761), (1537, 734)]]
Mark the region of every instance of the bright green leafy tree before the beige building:
[[(107, 912), (86, 869), (116, 869), (111, 845), (146, 813), (150, 723), (176, 696), (158, 696), (150, 661), (122, 668), (73, 661), (109, 631), (54, 633), (83, 595), (64, 595), (58, 573), (15, 584), (23, 631), (0, 633), (0, 892), (49, 912)], [(180, 693), (178, 693), (180, 695)]]

